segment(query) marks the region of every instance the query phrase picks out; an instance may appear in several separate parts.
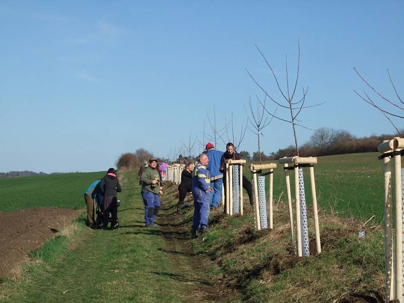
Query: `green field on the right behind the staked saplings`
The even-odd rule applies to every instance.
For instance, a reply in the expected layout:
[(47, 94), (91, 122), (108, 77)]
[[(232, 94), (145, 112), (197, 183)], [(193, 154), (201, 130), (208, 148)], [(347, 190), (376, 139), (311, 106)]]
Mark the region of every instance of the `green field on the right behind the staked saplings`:
[[(382, 163), (378, 153), (350, 154), (319, 157), (315, 165), (317, 202), (319, 208), (341, 217), (353, 216), (362, 221), (375, 215), (372, 222), (383, 220), (384, 189)], [(275, 161), (277, 163), (277, 161)], [(249, 168), (244, 171), (251, 179)], [(274, 170), (274, 199), (286, 201), (283, 165)], [(293, 171), (289, 171), (292, 198), (294, 197)], [(306, 201), (312, 204), (310, 175), (304, 168)], [(269, 177), (266, 177), (268, 194)]]

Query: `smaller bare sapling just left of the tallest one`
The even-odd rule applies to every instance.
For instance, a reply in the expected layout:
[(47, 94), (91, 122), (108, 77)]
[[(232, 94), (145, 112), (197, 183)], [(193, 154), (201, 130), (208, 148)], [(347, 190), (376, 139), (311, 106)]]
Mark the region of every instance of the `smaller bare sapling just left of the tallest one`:
[[(258, 96), (256, 96), (256, 97), (257, 97), (257, 112), (255, 112), (252, 109), (251, 97), (248, 100), (248, 107), (249, 107), (251, 118), (250, 118), (250, 115), (247, 113), (247, 110), (245, 109), (245, 106), (244, 106), (244, 111), (245, 111), (245, 114), (247, 115), (247, 121), (251, 124), (251, 127), (252, 127), (252, 128), (250, 128), (247, 125), (248, 129), (252, 133), (256, 134), (257, 137), (258, 137), (258, 155), (259, 155), (259, 159), (260, 159), (260, 164), (262, 164), (260, 138), (261, 138), (261, 136), (264, 136), (263, 133), (262, 133), (262, 130), (271, 123), (272, 119), (274, 118), (274, 115), (271, 114), (271, 119), (269, 121), (268, 121), (269, 116), (264, 117), (264, 114), (265, 114), (264, 110), (265, 110), (265, 103), (267, 102), (267, 95), (265, 94), (264, 104), (261, 103)], [(261, 104), (262, 109), (260, 109), (259, 104)], [(275, 110), (275, 113), (276, 113), (276, 110)], [(254, 123), (252, 121), (254, 121)]]

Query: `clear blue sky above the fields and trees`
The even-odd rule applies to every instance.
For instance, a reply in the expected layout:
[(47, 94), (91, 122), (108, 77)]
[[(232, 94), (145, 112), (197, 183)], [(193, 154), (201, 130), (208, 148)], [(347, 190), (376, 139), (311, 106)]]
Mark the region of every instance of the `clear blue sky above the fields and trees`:
[[(245, 68), (279, 99), (255, 43), (284, 87), (300, 40), (298, 96), (309, 86), (307, 105), (326, 101), (302, 124), (392, 132), (353, 92), (366, 87), (352, 67), (393, 98), (388, 68), (404, 96), (403, 12), (400, 1), (2, 1), (0, 172), (106, 170), (138, 147), (167, 157), (201, 139), (214, 105), (218, 127), (233, 111), (238, 132), (248, 96), (262, 96)], [(281, 121), (263, 134), (266, 154), (293, 143)], [(299, 128), (299, 143), (311, 134)], [(256, 141), (247, 130), (240, 149)]]

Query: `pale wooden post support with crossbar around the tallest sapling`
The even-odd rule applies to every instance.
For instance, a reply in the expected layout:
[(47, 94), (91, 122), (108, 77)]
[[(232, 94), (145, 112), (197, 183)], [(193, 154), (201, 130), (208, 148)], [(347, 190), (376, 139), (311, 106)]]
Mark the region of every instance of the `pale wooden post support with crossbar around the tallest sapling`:
[[(279, 159), (279, 164), (284, 165), (285, 170), (285, 181), (286, 181), (286, 192), (288, 198), (289, 207), (289, 221), (290, 229), (292, 233), (292, 245), (294, 250), (297, 252), (297, 256), (302, 256), (302, 245), (301, 245), (301, 228), (300, 228), (300, 196), (299, 196), (299, 167), (309, 167), (310, 168), (310, 181), (312, 186), (312, 197), (313, 197), (313, 212), (314, 212), (314, 224), (316, 231), (316, 250), (317, 254), (321, 252), (321, 242), (320, 242), (320, 228), (319, 228), (319, 217), (317, 209), (317, 195), (316, 195), (316, 184), (314, 178), (314, 164), (317, 164), (316, 157), (289, 157)], [(289, 167), (289, 164), (293, 164), (293, 168)], [(292, 212), (292, 199), (290, 191), (290, 180), (288, 170), (294, 170), (294, 190), (295, 190), (295, 216), (296, 216), (296, 234), (293, 232), (293, 212)], [(294, 237), (295, 236), (295, 237)], [(297, 242), (297, 245), (296, 245)], [(297, 246), (297, 247), (296, 247)]]

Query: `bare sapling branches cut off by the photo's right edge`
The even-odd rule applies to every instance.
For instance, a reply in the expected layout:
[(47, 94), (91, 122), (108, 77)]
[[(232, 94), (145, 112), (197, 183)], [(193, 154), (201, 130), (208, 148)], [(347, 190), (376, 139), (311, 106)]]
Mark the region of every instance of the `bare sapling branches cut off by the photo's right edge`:
[[(404, 102), (402, 102), (402, 99), (400, 97), (400, 95), (397, 92), (397, 89), (395, 88), (394, 82), (391, 79), (390, 76), (390, 72), (387, 70), (387, 74), (388, 77), (390, 79), (390, 83), (394, 89), (394, 93), (397, 96), (397, 99), (399, 101), (398, 102), (393, 102), (391, 101), (389, 98), (385, 97), (384, 95), (382, 95), (378, 90), (376, 90), (376, 88), (374, 88), (368, 81), (365, 80), (365, 78), (357, 71), (357, 69), (354, 67), (354, 71), (358, 74), (358, 76), (366, 83), (366, 85), (374, 92), (376, 93), (384, 102), (387, 102), (395, 111), (404, 111)], [(370, 97), (370, 95), (364, 91), (364, 95), (366, 97), (364, 97), (363, 95), (361, 95), (358, 91), (356, 91), (354, 89), (354, 92), (362, 99), (364, 100), (366, 103), (370, 104), (371, 106), (375, 107), (376, 109), (378, 109), (383, 116), (391, 123), (391, 125), (395, 128), (395, 130), (397, 131), (398, 134), (402, 135), (402, 132), (395, 126), (395, 124), (393, 123), (393, 121), (390, 119), (390, 117), (397, 117), (397, 118), (401, 118), (404, 119), (403, 114), (397, 115), (397, 114), (393, 114), (390, 110), (386, 110), (385, 108), (382, 108), (380, 106), (377, 105), (377, 103)], [(400, 104), (401, 103), (401, 104)]]

